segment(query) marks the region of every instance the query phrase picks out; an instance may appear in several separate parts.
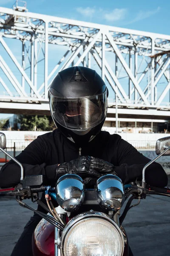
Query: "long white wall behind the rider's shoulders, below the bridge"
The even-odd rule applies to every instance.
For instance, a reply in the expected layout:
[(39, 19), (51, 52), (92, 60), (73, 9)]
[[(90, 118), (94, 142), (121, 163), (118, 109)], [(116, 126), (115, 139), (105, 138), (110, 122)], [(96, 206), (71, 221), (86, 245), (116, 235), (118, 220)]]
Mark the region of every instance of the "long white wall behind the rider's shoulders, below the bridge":
[[(107, 131), (112, 133), (108, 128)], [(31, 143), (37, 136), (45, 134), (45, 132), (34, 132), (34, 131), (3, 131), (7, 138), (7, 151), (11, 151), (10, 154), (15, 156), (20, 153), (26, 146)], [(155, 145), (156, 140), (161, 137), (168, 137), (169, 134), (119, 134), (122, 139), (128, 141), (135, 148), (137, 148), (144, 156), (153, 159), (156, 156)], [(15, 143), (15, 148), (14, 148)], [(5, 155), (0, 152), (0, 157)], [(8, 158), (8, 157), (7, 157)], [(8, 159), (9, 160), (9, 159)], [(163, 166), (165, 172), (170, 174), (170, 157), (160, 157), (158, 162)], [(4, 163), (2, 163), (3, 165)]]

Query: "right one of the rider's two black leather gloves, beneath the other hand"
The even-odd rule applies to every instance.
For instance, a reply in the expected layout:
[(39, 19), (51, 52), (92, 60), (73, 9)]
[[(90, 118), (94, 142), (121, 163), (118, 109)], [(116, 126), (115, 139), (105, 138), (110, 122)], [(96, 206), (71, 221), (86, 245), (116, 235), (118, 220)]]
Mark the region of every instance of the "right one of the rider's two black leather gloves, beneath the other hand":
[(114, 166), (112, 163), (106, 162), (99, 158), (91, 157), (91, 167), (102, 175), (117, 175), (114, 171)]

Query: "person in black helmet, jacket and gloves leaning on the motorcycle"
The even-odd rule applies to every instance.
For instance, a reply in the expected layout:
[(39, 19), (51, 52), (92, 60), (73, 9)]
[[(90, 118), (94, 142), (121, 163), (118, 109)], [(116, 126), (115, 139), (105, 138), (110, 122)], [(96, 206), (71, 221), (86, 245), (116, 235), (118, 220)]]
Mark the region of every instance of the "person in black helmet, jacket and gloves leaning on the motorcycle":
[[(116, 172), (124, 184), (141, 178), (150, 160), (118, 134), (101, 131), (107, 115), (108, 89), (94, 70), (70, 67), (59, 72), (49, 89), (49, 102), (57, 129), (37, 137), (16, 157), (25, 175), (45, 175), (46, 183), (55, 186), (59, 177), (74, 173), (88, 187), (107, 173)], [(145, 179), (152, 186), (167, 185), (167, 175), (158, 163), (148, 167)], [(0, 187), (18, 183), (20, 167), (11, 160), (0, 171)], [(32, 234), (39, 221), (38, 215), (31, 217), (11, 256), (32, 255)]]

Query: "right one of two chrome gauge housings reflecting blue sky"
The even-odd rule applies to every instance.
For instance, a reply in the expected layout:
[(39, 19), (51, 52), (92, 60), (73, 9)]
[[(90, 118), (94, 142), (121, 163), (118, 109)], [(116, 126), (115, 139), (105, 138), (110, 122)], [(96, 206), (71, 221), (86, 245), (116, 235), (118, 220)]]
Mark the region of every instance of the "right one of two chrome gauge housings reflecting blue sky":
[(96, 181), (95, 192), (99, 205), (109, 211), (117, 212), (125, 201), (122, 180), (116, 175), (108, 174)]

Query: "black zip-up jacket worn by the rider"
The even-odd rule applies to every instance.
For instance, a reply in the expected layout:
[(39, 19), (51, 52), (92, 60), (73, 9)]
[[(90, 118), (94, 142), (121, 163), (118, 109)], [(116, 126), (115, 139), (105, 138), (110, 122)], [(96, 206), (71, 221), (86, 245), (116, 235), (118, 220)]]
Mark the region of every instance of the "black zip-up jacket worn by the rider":
[[(124, 183), (141, 177), (144, 165), (150, 161), (119, 135), (106, 131), (101, 131), (91, 142), (82, 145), (81, 155), (113, 163), (115, 172)], [(56, 176), (57, 164), (78, 157), (79, 147), (56, 129), (37, 137), (16, 159), (23, 164), (25, 175), (43, 174), (51, 184)], [(153, 163), (146, 169), (145, 179), (152, 186), (167, 186), (167, 175), (159, 163)], [(18, 183), (20, 167), (11, 160), (0, 171), (0, 187), (16, 186)]]

